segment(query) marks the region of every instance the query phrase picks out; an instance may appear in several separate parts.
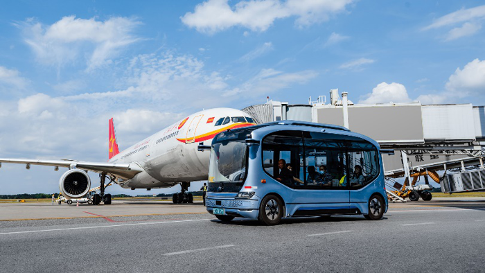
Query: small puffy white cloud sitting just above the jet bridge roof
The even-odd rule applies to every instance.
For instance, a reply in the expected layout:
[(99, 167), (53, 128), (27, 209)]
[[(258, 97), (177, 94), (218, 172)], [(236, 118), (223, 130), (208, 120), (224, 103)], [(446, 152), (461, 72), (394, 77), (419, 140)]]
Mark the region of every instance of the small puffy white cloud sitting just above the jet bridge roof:
[(371, 94), (366, 95), (366, 99), (359, 100), (359, 103), (373, 104), (373, 103), (409, 103), (411, 99), (407, 95), (407, 90), (404, 85), (400, 83), (381, 82), (372, 89)]

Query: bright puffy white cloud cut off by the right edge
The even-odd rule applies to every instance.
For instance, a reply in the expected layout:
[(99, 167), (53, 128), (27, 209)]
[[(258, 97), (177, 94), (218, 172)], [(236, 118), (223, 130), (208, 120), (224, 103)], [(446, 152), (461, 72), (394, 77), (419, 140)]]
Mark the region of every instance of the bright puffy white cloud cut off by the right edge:
[(446, 82), (446, 89), (454, 91), (456, 96), (467, 96), (470, 92), (485, 91), (485, 60), (475, 59), (457, 68)]

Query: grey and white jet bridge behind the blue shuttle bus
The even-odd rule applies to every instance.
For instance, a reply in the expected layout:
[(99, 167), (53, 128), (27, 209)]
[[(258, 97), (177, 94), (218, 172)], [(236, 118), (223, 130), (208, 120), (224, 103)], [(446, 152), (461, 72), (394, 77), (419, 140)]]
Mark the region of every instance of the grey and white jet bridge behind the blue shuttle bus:
[[(262, 105), (246, 107), (243, 111), (259, 123), (292, 119), (347, 125), (353, 132), (378, 141), (381, 148), (396, 150), (394, 155), (383, 155), (385, 175), (389, 181), (387, 186), (399, 186), (395, 179), (405, 177), (405, 197), (413, 191), (425, 191), (419, 191), (414, 186), (415, 174), (423, 171), (446, 171), (446, 175), (439, 180), (443, 193), (485, 190), (484, 106), (421, 103), (360, 105), (347, 100), (346, 94), (343, 95), (341, 98), (338, 89), (332, 89), (328, 104), (326, 96), (319, 96), (315, 101), (309, 98), (308, 105), (268, 100)], [(479, 173), (478, 180), (477, 175), (471, 175), (471, 184), (468, 183), (468, 178), (463, 179), (468, 177), (468, 173)], [(427, 181), (427, 175), (424, 177)], [(466, 181), (465, 186), (459, 186), (463, 185), (463, 181)], [(403, 192), (403, 188), (395, 190), (396, 193)], [(402, 196), (393, 198), (404, 200)]]

